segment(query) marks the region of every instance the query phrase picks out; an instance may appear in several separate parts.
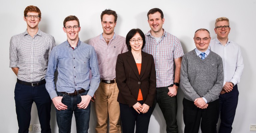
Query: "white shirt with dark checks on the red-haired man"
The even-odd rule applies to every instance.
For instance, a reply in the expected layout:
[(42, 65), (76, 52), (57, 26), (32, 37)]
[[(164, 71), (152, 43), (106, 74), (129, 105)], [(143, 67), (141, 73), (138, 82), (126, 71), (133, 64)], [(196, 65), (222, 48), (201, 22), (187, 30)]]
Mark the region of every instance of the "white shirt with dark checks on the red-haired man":
[(38, 82), (45, 78), (48, 59), (55, 46), (54, 37), (38, 29), (32, 38), (27, 30), (10, 40), (10, 66), (18, 67), (17, 78)]

